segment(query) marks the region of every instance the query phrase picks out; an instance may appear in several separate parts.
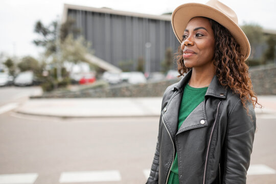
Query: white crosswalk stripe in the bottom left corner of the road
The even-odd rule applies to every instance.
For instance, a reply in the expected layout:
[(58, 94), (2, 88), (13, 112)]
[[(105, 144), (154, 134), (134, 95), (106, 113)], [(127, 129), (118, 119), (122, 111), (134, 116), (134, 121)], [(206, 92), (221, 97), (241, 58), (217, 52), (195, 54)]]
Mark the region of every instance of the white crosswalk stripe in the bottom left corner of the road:
[(0, 184), (29, 184), (34, 183), (38, 174), (37, 173), (26, 173), (26, 174), (1, 174)]

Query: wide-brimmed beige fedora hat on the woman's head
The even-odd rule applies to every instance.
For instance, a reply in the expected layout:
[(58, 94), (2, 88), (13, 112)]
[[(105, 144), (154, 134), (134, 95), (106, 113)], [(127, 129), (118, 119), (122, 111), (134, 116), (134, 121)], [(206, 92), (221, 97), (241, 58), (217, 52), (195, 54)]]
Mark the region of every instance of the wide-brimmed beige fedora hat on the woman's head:
[(193, 17), (198, 16), (211, 18), (224, 26), (240, 44), (245, 59), (249, 57), (250, 44), (246, 35), (238, 25), (238, 17), (236, 13), (231, 8), (217, 0), (211, 0), (206, 4), (187, 3), (178, 6), (173, 11), (172, 28), (180, 43), (188, 22)]

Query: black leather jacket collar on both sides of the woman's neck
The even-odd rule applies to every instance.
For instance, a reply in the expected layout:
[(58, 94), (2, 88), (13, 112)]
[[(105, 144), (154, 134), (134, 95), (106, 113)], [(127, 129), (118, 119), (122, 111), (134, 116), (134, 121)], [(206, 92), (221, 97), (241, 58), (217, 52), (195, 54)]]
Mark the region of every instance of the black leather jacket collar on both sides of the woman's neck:
[[(179, 90), (182, 92), (184, 86), (188, 83), (192, 75), (192, 70), (190, 70), (179, 82), (176, 83), (173, 90)], [(206, 96), (212, 96), (217, 98), (225, 99), (227, 95), (227, 89), (224, 88), (218, 81), (217, 76), (215, 75), (206, 91)]]

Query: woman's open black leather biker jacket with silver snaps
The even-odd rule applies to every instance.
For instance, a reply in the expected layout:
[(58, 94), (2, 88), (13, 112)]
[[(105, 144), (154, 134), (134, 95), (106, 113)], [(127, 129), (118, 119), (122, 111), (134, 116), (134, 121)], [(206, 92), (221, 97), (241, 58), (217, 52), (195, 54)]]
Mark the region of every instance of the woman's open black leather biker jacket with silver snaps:
[(177, 131), (183, 87), (191, 71), (164, 94), (158, 140), (147, 184), (167, 183), (178, 154), (180, 184), (246, 183), (256, 130), (254, 107), (215, 76), (201, 102)]

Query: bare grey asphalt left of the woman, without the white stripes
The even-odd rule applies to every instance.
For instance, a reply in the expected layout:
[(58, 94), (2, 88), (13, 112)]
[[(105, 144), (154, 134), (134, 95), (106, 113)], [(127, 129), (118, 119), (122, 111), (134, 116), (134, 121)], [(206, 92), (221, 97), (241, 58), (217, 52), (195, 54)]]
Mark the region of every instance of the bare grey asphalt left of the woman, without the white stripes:
[(37, 173), (34, 183), (59, 183), (62, 172), (117, 170), (122, 180), (112, 183), (146, 181), (158, 118), (64, 120), (10, 112), (0, 119), (0, 174)]

